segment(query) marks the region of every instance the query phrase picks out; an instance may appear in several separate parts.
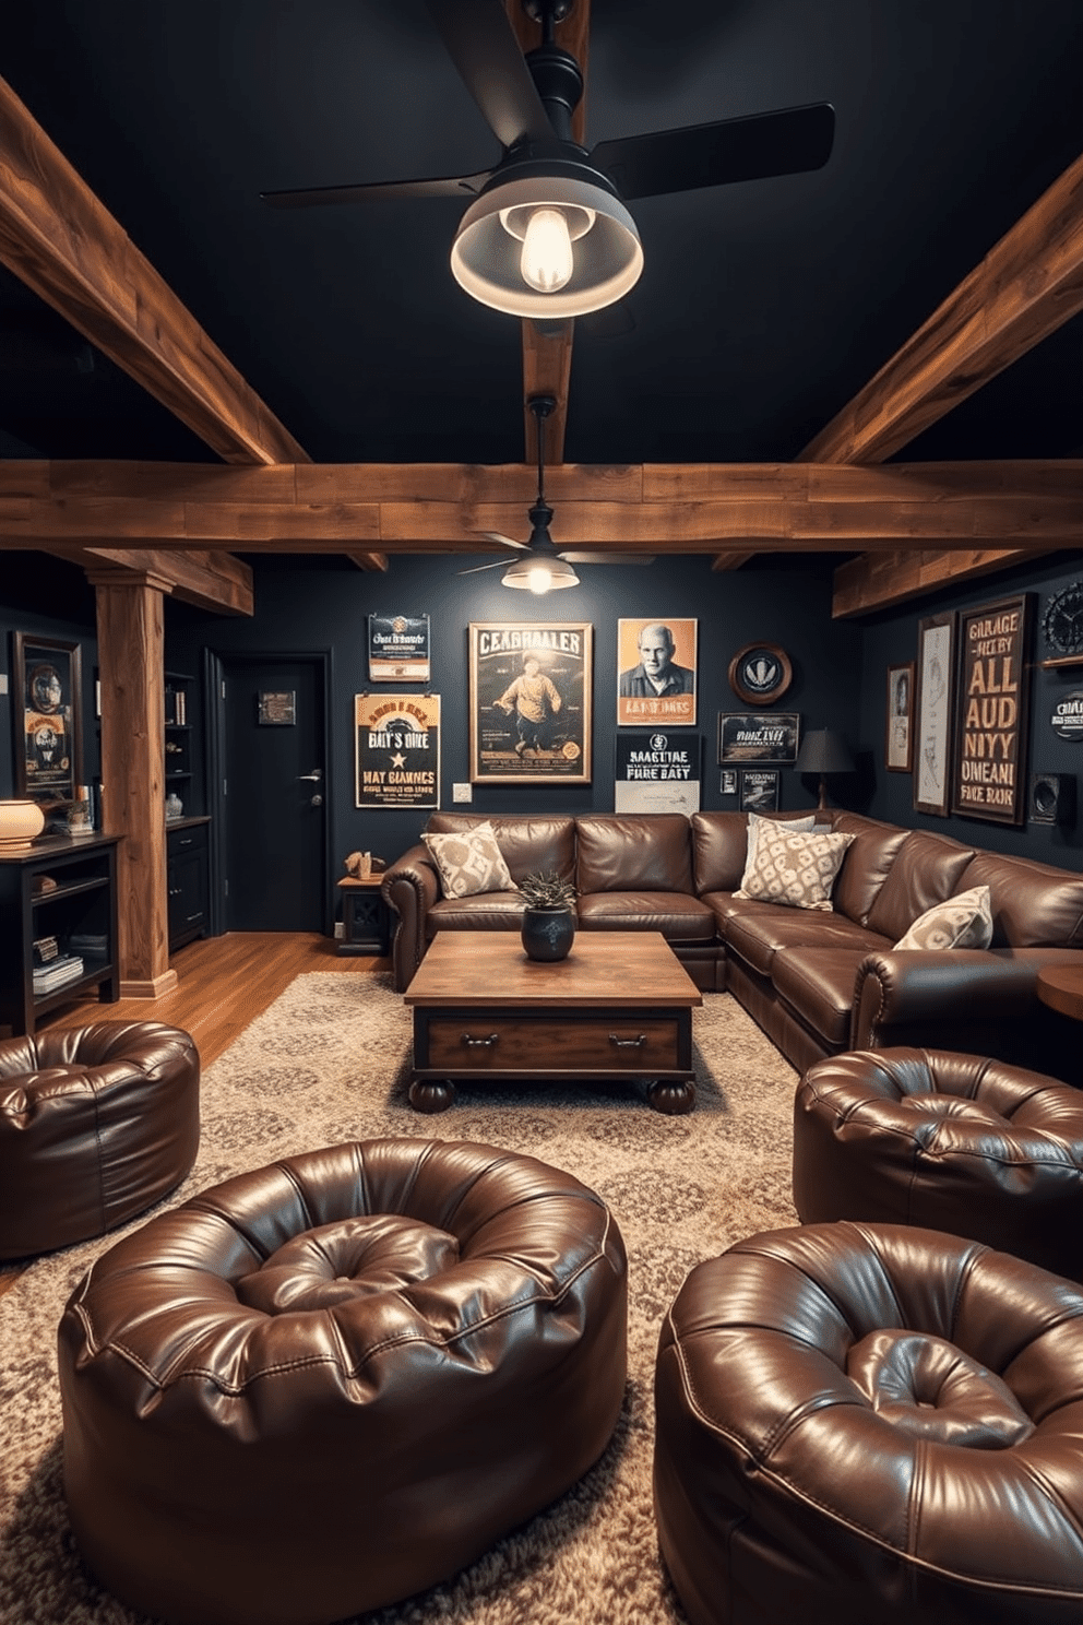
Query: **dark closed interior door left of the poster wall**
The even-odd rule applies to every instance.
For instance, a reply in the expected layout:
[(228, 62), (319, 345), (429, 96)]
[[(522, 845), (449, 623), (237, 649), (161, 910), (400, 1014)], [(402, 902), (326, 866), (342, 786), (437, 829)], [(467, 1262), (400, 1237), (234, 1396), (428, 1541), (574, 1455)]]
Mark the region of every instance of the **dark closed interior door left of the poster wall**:
[(326, 918), (323, 665), (222, 663), (227, 931), (321, 931)]

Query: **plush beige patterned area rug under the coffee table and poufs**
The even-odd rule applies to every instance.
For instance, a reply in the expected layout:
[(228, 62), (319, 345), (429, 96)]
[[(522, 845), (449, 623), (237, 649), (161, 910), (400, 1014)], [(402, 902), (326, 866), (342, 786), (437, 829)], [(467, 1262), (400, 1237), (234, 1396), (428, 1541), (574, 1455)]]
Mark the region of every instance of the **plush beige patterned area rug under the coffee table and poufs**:
[[(302, 975), (203, 1076), (198, 1162), (162, 1206), (299, 1150), (386, 1134), (471, 1139), (567, 1168), (609, 1204), (628, 1248), (628, 1389), (617, 1433), (562, 1500), (434, 1591), (365, 1625), (667, 1625), (682, 1620), (651, 1508), (651, 1384), (662, 1316), (688, 1269), (796, 1224), (796, 1072), (729, 994), (693, 1014), (697, 1110), (651, 1112), (635, 1086), (476, 1084), (438, 1116), (406, 1102), (409, 1012), (388, 977)], [(2, 1199), (2, 1193), (0, 1193)], [(145, 1216), (146, 1217), (146, 1216)], [(145, 1217), (128, 1228), (138, 1228)], [(0, 1298), (0, 1620), (143, 1625), (75, 1549), (60, 1477), (55, 1328), (115, 1240), (42, 1258)]]

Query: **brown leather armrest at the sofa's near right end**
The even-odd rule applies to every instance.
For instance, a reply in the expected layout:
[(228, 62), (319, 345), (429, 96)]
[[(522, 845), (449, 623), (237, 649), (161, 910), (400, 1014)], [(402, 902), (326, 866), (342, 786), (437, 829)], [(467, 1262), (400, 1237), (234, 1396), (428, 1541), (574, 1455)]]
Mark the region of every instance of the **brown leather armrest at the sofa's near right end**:
[[(1044, 1011), (1042, 965), (1080, 964), (1072, 949), (887, 949), (857, 967), (851, 1048), (963, 1050), (1013, 1060)], [(1018, 1045), (1005, 1035), (1015, 1032)], [(1005, 1055), (1012, 1050), (1012, 1055)]]

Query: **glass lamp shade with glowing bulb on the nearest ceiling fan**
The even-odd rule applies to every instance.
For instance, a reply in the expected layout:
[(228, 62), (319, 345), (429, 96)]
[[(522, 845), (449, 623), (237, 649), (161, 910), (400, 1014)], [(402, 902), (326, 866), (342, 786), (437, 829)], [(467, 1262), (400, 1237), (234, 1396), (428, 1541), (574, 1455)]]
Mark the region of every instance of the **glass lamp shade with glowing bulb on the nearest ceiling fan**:
[(520, 317), (601, 310), (627, 294), (641, 270), (628, 210), (578, 176), (520, 176), (494, 185), (466, 210), (451, 245), (460, 286)]

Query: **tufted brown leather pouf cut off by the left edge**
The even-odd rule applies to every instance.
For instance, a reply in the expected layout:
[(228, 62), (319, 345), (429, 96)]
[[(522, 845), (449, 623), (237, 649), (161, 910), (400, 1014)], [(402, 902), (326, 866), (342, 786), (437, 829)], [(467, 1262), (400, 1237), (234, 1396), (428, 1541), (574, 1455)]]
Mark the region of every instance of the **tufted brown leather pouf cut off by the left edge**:
[(0, 1038), (0, 1258), (135, 1219), (198, 1149), (200, 1056), (179, 1027), (99, 1020)]

